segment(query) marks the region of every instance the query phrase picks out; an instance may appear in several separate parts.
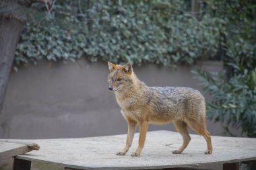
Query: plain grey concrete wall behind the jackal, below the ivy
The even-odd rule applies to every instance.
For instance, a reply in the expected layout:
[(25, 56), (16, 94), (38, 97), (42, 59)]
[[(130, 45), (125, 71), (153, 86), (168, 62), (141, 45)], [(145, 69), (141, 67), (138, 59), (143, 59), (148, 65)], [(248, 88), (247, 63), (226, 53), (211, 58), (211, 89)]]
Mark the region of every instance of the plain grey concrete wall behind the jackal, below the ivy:
[[(203, 62), (207, 70), (220, 71), (222, 63)], [(193, 78), (194, 67), (169, 69), (156, 65), (134, 67), (149, 86), (184, 86), (203, 90)], [(20, 67), (11, 73), (0, 115), (0, 138), (70, 138), (125, 134), (113, 92), (108, 91), (106, 63), (49, 63)], [(206, 96), (207, 99), (209, 97)], [(220, 124), (208, 122), (210, 132), (221, 135)], [(150, 130), (174, 130), (171, 124)]]

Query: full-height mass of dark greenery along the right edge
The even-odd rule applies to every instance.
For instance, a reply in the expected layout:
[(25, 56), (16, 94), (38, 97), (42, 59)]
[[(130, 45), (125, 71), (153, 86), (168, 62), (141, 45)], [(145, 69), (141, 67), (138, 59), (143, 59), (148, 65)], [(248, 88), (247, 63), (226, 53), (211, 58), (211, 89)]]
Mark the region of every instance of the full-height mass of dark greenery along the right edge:
[(256, 137), (256, 5), (253, 1), (216, 1), (216, 15), (222, 15), (224, 73), (194, 71), (205, 91), (212, 95), (207, 111), (210, 119), (241, 128)]

